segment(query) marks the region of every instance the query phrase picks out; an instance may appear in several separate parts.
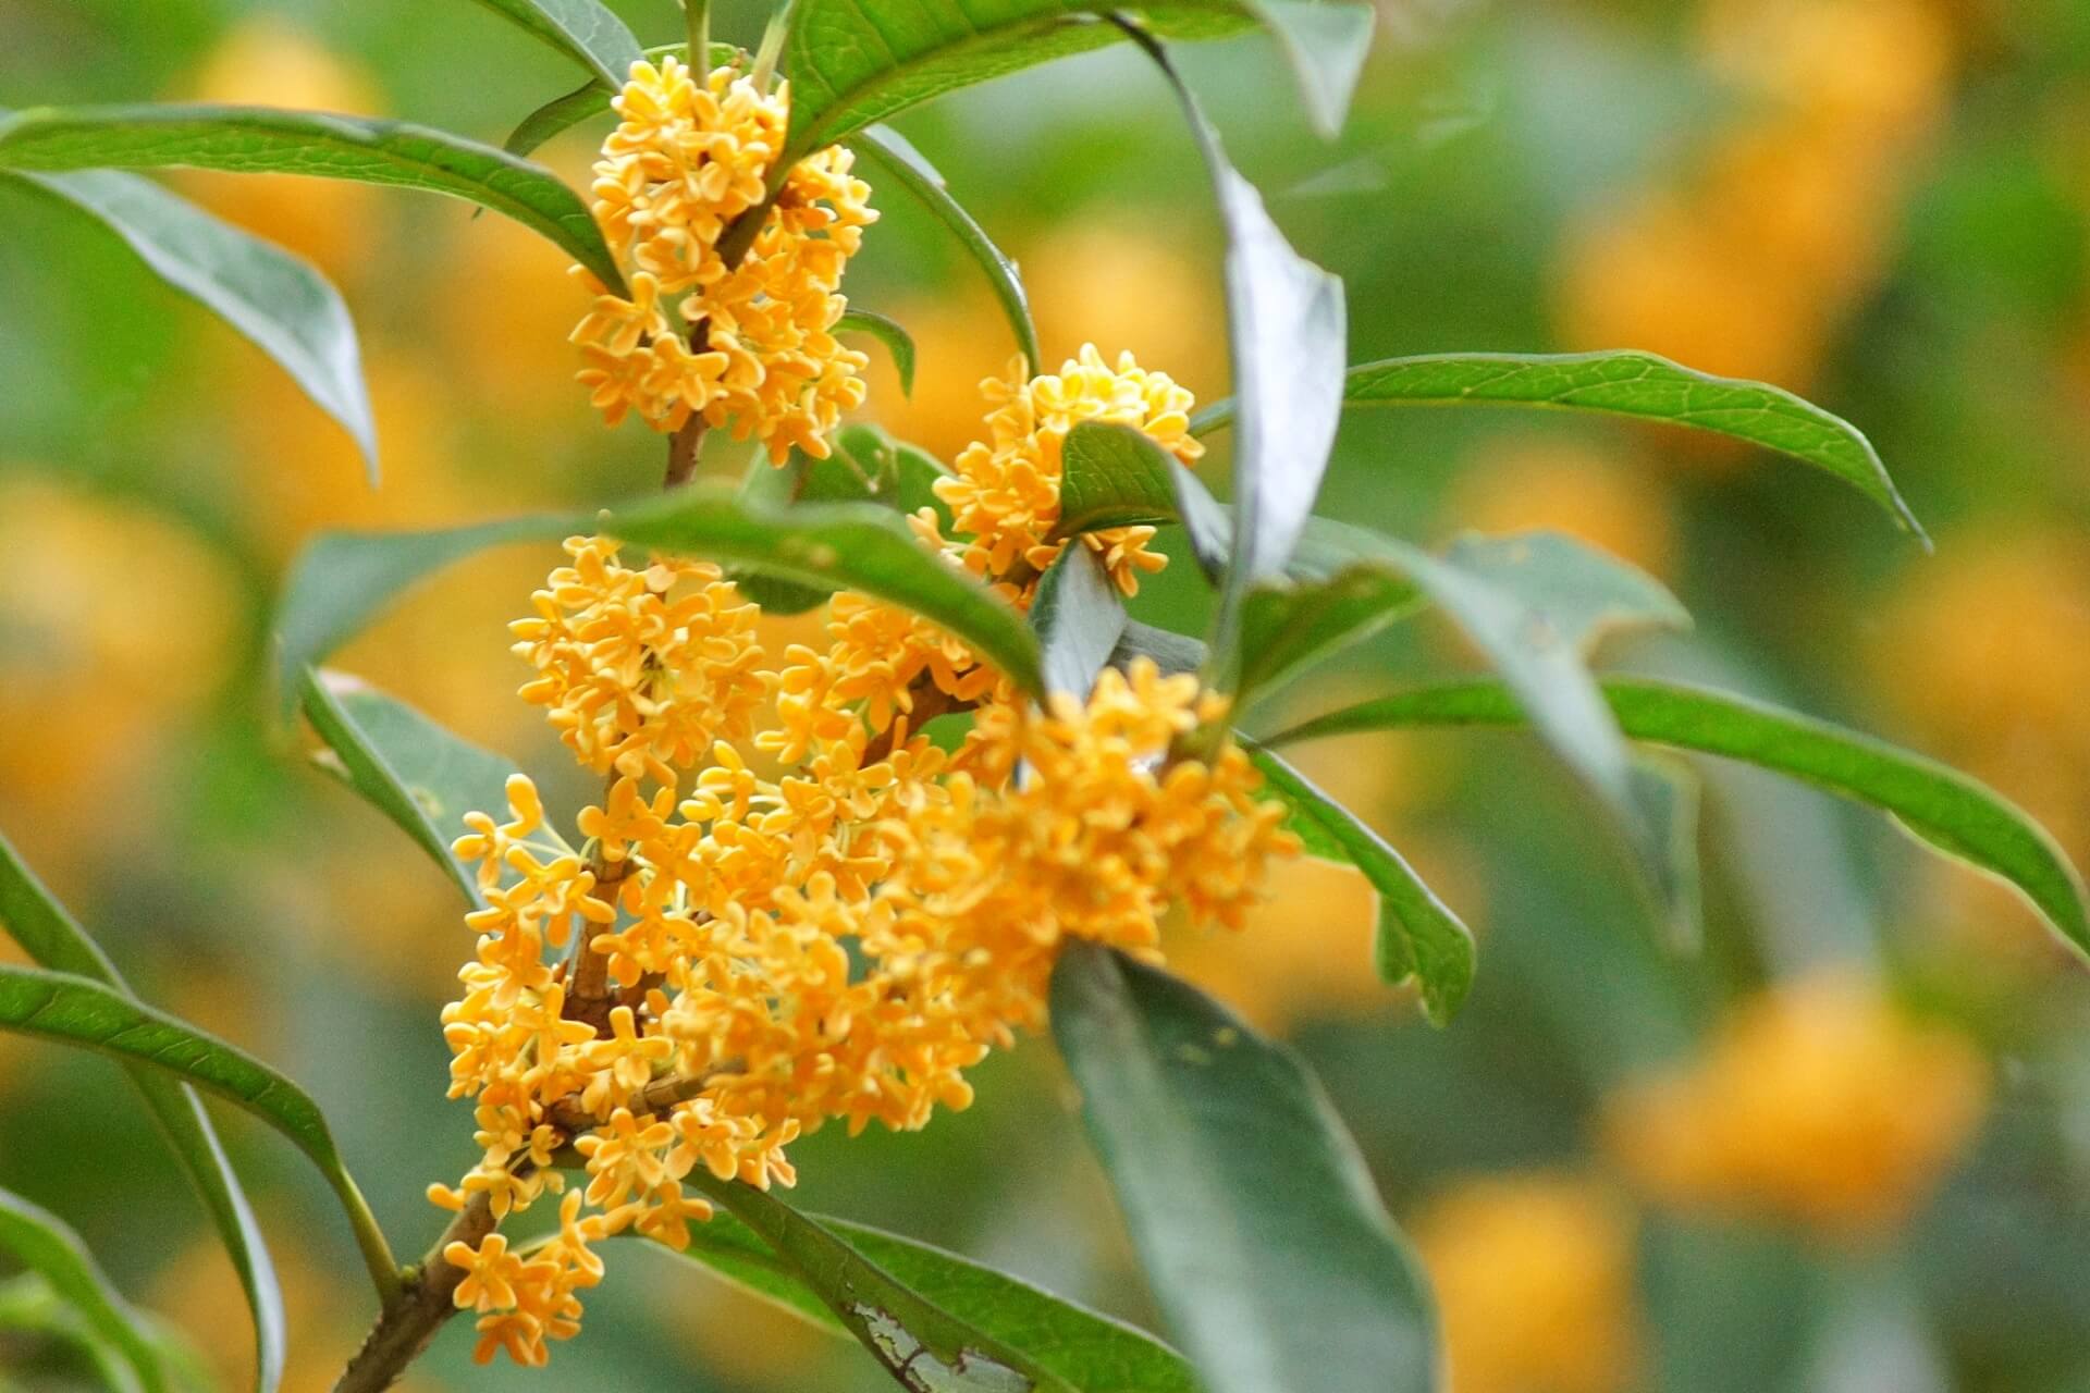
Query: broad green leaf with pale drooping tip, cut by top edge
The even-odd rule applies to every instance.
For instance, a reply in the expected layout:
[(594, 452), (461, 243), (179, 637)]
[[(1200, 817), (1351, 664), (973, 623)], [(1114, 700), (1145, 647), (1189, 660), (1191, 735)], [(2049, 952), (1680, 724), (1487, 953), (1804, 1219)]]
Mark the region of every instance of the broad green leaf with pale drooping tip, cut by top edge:
[[(1304, 8), (1344, 13), (1302, 15)], [(1292, 56), (1317, 125), (1331, 129), (1371, 38), (1369, 15), (1348, 13), (1354, 8), (1363, 6), (1160, 0), (1129, 13), (1181, 40), (1267, 23)], [(792, 81), (786, 159), (803, 159), (945, 92), (1112, 44), (1122, 31), (1099, 23), (1112, 13), (1078, 0), (953, 0), (940, 8), (798, 0), (784, 40), (784, 71)]]

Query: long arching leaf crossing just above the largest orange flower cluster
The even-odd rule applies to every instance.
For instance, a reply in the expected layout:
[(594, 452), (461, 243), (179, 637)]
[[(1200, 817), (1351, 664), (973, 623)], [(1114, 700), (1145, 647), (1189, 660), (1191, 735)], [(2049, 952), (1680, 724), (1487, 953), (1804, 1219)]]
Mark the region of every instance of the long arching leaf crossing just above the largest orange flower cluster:
[(606, 533), (700, 556), (811, 589), (853, 589), (951, 631), (1024, 691), (1039, 691), (1039, 647), (1024, 618), (972, 576), (922, 547), (874, 503), (754, 507), (713, 487), (598, 516), (529, 516), (435, 533), (326, 533), (299, 556), (276, 614), (284, 708), (307, 666), (332, 652), (403, 589), (485, 547)]

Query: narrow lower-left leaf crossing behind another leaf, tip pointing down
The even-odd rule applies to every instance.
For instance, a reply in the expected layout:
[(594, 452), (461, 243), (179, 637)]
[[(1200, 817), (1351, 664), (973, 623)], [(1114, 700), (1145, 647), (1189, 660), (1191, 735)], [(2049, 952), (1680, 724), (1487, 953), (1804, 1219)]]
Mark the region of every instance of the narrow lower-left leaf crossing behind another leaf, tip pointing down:
[[(130, 994), (115, 963), (29, 871), (6, 837), (0, 837), (0, 925), (36, 963)], [(276, 1393), (286, 1345), (282, 1291), (261, 1226), (255, 1224), (247, 1193), (232, 1174), (217, 1130), (203, 1111), (203, 1101), (186, 1084), (138, 1063), (125, 1063), (123, 1071), (159, 1122), (173, 1159), (188, 1174), (226, 1245), (255, 1322), (255, 1389)]]

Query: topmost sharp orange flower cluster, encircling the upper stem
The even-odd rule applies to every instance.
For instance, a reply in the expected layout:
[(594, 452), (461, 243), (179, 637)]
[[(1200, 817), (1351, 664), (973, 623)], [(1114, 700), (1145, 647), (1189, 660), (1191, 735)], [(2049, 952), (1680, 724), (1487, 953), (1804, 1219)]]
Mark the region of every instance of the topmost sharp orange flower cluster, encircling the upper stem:
[[(612, 426), (629, 411), (656, 430), (700, 416), (782, 464), (792, 447), (826, 457), (828, 432), (863, 401), (867, 359), (834, 326), (842, 269), (878, 215), (840, 146), (792, 165), (761, 211), (790, 123), (788, 84), (763, 86), (729, 67), (698, 81), (675, 58), (631, 65), (594, 184), (631, 297), (596, 286), (573, 340)], [(761, 232), (727, 265), (719, 240), (746, 213)]]

